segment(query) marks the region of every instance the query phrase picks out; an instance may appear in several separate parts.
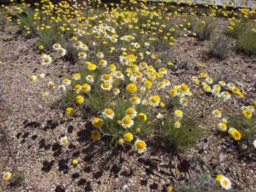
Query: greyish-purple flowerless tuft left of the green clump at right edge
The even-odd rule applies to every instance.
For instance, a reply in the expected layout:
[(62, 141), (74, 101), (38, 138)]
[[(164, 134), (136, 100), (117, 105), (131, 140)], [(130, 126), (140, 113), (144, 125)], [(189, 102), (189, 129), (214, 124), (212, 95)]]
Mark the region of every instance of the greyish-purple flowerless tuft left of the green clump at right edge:
[(210, 42), (206, 45), (206, 53), (209, 56), (218, 59), (226, 58), (228, 52), (230, 52), (230, 39), (222, 35), (214, 35), (210, 38)]

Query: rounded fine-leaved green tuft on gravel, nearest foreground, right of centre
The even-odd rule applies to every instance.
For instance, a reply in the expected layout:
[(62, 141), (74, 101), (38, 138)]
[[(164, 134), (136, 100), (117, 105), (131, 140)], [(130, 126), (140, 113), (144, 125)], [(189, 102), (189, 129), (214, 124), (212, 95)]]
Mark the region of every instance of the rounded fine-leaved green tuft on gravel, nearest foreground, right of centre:
[(163, 124), (160, 124), (161, 138), (173, 152), (184, 150), (199, 138), (200, 132), (202, 134), (202, 130), (199, 130), (196, 120), (183, 117), (180, 123), (181, 127), (175, 128), (175, 119), (171, 115), (167, 115)]

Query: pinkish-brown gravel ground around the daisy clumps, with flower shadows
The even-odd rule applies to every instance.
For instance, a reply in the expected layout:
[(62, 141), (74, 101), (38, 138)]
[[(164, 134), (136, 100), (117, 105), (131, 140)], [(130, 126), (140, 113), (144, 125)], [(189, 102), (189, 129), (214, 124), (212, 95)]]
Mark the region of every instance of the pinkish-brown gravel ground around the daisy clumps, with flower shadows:
[[(122, 148), (113, 150), (105, 146), (104, 140), (89, 142), (91, 126), (80, 117), (68, 119), (60, 114), (58, 97), (42, 96), (49, 79), (62, 79), (61, 75), (69, 75), (67, 71), (75, 70), (74, 66), (59, 61), (50, 68), (40, 66), (39, 71), (40, 54), (34, 50), (35, 39), (0, 32), (0, 42), (0, 128), (4, 132), (0, 135), (0, 172), (12, 171), (16, 177), (24, 177), (20, 185), (2, 181), (4, 191), (162, 191), (168, 183), (193, 179), (212, 167), (217, 173), (224, 172), (242, 191), (256, 191), (255, 162), (245, 163), (237, 158), (232, 140), (216, 132), (213, 119), (205, 115), (211, 106), (207, 107), (204, 98), (189, 103), (195, 111), (202, 111), (195, 117), (203, 118), (200, 126), (210, 134), (180, 156), (159, 150), (161, 146), (154, 138), (147, 141), (146, 154)], [(191, 42), (189, 38), (181, 38), (174, 49), (178, 64), (185, 62), (193, 68), (204, 64), (202, 70), (211, 77), (228, 76), (248, 97), (255, 94), (255, 57), (232, 51), (225, 60), (208, 58), (204, 42)], [(30, 83), (28, 77), (37, 71), (46, 73), (46, 78)], [(171, 82), (191, 83), (191, 73), (198, 72), (185, 70), (170, 75)], [(239, 102), (227, 102), (221, 109), (230, 111)], [(60, 148), (57, 142), (64, 135), (71, 138), (69, 146)], [(69, 163), (72, 158), (79, 160), (76, 167)], [(196, 163), (200, 165), (194, 169)], [(187, 164), (189, 168), (183, 172)], [(181, 174), (177, 173), (178, 168)]]

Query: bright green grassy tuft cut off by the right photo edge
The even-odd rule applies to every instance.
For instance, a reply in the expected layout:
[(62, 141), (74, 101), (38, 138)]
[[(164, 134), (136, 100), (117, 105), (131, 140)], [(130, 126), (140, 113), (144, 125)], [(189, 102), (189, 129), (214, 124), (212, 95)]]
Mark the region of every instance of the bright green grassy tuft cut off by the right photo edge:
[(256, 54), (256, 32), (253, 32), (251, 29), (247, 30), (237, 40), (237, 48), (243, 52)]

